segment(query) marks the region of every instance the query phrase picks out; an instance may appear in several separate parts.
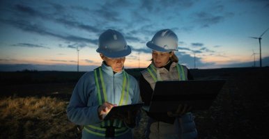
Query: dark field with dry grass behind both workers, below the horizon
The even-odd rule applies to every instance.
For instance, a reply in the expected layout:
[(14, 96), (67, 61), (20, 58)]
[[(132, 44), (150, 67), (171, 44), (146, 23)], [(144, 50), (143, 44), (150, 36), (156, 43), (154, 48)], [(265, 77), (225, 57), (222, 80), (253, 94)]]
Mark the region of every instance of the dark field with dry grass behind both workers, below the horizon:
[[(139, 78), (139, 70), (128, 70)], [(269, 67), (191, 70), (194, 79), (225, 79), (208, 111), (194, 113), (199, 138), (269, 138)], [(82, 72), (0, 72), (0, 138), (81, 138), (66, 106)], [(142, 113), (134, 138), (144, 138)]]

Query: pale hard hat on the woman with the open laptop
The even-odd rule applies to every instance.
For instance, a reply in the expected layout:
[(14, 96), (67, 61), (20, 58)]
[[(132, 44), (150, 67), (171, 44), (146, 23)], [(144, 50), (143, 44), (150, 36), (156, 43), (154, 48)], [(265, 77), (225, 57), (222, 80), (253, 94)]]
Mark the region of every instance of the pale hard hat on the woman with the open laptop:
[(157, 31), (152, 40), (146, 43), (146, 46), (155, 51), (178, 51), (178, 37), (170, 29)]

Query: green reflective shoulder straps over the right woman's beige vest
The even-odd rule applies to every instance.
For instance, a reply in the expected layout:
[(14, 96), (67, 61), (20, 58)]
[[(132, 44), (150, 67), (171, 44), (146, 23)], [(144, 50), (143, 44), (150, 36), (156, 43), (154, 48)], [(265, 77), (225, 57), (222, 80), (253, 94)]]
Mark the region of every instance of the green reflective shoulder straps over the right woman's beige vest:
[[(160, 80), (157, 80), (157, 71), (156, 71), (156, 68), (152, 64), (146, 70), (148, 70), (149, 74), (151, 74), (151, 77), (153, 78), (155, 82), (160, 81)], [(180, 64), (177, 64), (176, 70), (178, 71), (178, 80), (185, 81), (185, 73), (183, 70), (183, 66)]]

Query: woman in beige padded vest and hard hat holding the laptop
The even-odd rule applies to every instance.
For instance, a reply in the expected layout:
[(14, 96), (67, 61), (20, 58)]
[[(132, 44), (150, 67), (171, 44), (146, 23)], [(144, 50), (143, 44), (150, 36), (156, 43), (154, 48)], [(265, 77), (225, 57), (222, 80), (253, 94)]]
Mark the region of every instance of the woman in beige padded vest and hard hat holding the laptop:
[[(178, 37), (170, 29), (157, 31), (146, 46), (152, 49), (152, 63), (141, 72), (139, 88), (145, 105), (151, 103), (156, 81), (193, 79), (187, 67), (178, 64)], [(178, 106), (174, 113), (147, 113), (146, 138), (197, 138), (194, 117), (187, 106)]]

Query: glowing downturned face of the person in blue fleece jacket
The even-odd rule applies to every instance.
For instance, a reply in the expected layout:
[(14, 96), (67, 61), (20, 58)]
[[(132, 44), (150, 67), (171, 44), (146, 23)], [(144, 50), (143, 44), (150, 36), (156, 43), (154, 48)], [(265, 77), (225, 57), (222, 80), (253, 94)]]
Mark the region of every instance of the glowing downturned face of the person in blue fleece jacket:
[(106, 56), (100, 54), (102, 60), (105, 61), (105, 63), (109, 66), (112, 67), (112, 70), (114, 72), (121, 72), (123, 70), (124, 62), (125, 62), (125, 57), (122, 58), (107, 58)]

